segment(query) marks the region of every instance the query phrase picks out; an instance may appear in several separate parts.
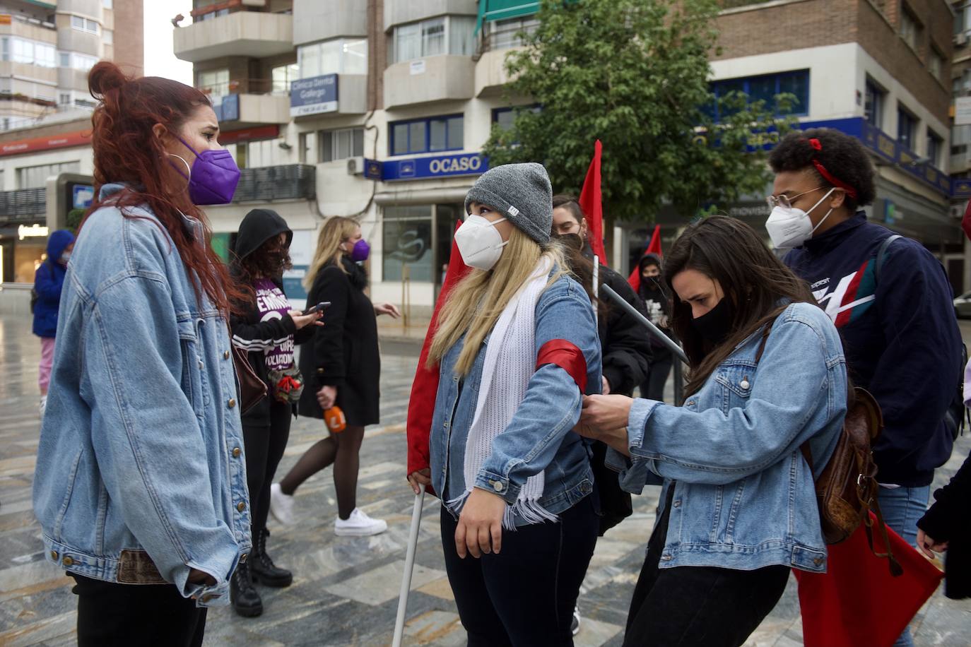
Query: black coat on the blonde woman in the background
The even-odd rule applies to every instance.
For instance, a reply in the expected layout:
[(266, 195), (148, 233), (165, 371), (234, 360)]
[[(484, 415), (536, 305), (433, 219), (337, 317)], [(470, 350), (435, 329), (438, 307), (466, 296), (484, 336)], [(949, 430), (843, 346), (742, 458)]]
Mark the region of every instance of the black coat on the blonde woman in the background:
[(329, 301), (331, 306), (324, 310), (323, 327), (317, 328), (313, 343), (300, 353), (307, 388), (298, 410), (300, 415), (323, 418), (317, 392), (322, 386), (335, 386), (337, 405), (348, 424), (363, 427), (379, 421), (378, 320), (364, 294), (364, 270), (348, 258), (342, 262), (343, 270), (334, 264), (320, 269), (307, 298), (308, 304)]

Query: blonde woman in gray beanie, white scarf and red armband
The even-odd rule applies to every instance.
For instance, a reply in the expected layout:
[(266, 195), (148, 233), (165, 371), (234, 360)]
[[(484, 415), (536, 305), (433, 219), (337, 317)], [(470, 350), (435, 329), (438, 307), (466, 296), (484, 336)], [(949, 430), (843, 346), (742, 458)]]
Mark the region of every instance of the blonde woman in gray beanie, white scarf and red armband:
[(600, 392), (593, 309), (551, 242), (542, 165), (491, 169), (465, 210), (455, 242), (474, 269), (439, 315), (431, 469), (409, 481), (443, 501), (446, 569), (469, 644), (572, 645), (598, 529), (590, 451), (570, 434), (584, 394)]

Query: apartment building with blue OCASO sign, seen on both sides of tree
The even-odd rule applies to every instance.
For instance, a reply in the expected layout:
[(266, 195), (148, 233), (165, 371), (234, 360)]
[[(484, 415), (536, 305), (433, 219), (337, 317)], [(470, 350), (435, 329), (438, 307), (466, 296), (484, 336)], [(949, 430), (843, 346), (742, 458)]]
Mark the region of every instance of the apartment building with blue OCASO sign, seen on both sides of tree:
[[(208, 210), (218, 245), (254, 206), (280, 211), (295, 231), (287, 291), (299, 298), (321, 216), (357, 217), (372, 243), (374, 297), (400, 301), (407, 276), (412, 303), (430, 306), (464, 195), (486, 168), (482, 146), (512, 117), (503, 60), (537, 6), (196, 0), (176, 55), (194, 64), (221, 141), (252, 178), (236, 203)], [(950, 210), (950, 3), (726, 0), (718, 20), (716, 92), (791, 92), (803, 127), (858, 137), (879, 175), (871, 218), (925, 243), (960, 289), (971, 263)], [(760, 196), (727, 210), (759, 227), (768, 214)], [(670, 240), (685, 215), (665, 210), (659, 222)], [(614, 264), (645, 235), (643, 223), (620, 223)]]

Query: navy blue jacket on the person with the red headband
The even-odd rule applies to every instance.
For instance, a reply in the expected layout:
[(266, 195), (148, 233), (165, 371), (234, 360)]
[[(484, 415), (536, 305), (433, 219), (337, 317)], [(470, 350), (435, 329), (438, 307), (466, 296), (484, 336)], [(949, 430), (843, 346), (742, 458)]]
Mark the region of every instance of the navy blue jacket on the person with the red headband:
[(791, 250), (785, 263), (836, 323), (854, 384), (883, 409), (878, 480), (919, 487), (951, 456), (944, 416), (962, 371), (961, 337), (951, 284), (921, 243), (890, 243), (877, 284), (877, 252), (892, 235), (858, 211)]

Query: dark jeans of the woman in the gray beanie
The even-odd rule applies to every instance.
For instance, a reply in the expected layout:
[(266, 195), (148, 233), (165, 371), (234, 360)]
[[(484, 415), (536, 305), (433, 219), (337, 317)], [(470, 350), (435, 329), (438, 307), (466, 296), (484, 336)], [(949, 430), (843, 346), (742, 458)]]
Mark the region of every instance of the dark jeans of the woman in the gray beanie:
[(573, 607), (597, 543), (593, 497), (557, 523), (504, 530), (501, 552), (478, 560), (459, 559), (457, 526), (443, 505), (445, 569), (469, 646), (572, 645)]

